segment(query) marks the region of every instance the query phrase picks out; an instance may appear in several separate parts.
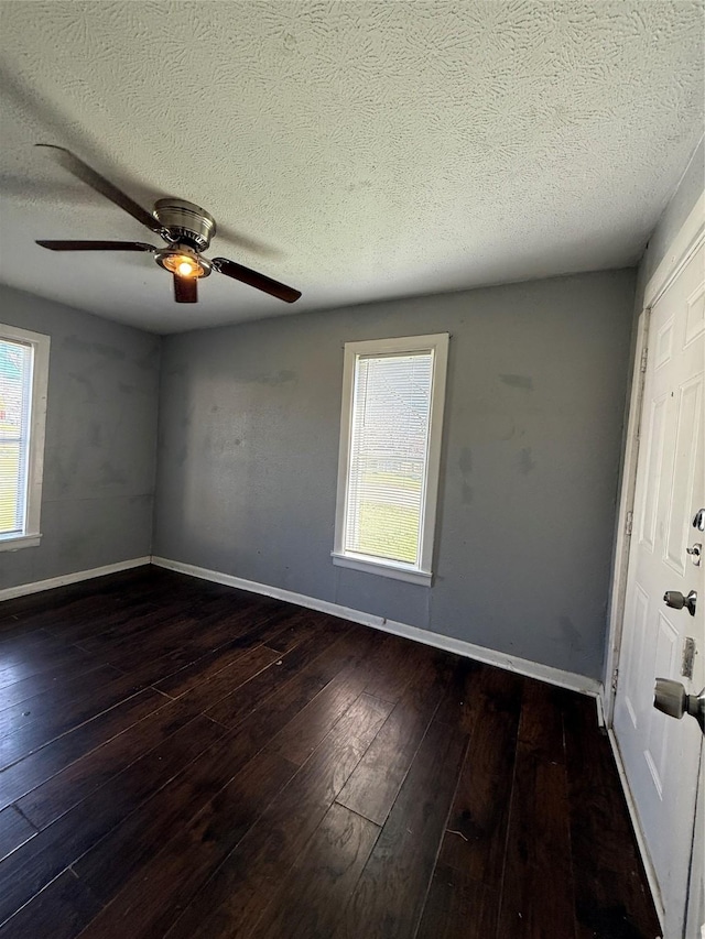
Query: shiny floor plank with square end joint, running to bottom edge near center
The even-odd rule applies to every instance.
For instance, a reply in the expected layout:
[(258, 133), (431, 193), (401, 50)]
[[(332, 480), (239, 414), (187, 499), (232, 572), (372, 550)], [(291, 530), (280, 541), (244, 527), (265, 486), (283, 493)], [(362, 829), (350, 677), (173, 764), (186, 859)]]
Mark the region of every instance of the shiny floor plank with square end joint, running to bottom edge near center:
[(274, 886), (250, 939), (328, 939), (379, 831), (373, 822), (334, 802), (289, 876)]

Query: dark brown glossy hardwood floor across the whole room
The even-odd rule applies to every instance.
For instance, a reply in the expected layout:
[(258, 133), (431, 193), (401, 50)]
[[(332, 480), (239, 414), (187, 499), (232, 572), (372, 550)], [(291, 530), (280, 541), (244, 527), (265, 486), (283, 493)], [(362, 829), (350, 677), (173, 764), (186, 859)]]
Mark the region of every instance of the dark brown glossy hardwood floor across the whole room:
[(0, 937), (653, 939), (595, 702), (156, 568), (0, 604)]

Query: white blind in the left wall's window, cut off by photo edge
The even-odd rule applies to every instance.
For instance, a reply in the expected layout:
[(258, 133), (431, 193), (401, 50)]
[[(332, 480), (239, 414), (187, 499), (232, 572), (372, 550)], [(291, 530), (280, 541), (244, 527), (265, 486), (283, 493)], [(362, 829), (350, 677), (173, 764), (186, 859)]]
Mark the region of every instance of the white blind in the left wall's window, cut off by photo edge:
[(0, 535), (26, 525), (34, 348), (0, 338)]

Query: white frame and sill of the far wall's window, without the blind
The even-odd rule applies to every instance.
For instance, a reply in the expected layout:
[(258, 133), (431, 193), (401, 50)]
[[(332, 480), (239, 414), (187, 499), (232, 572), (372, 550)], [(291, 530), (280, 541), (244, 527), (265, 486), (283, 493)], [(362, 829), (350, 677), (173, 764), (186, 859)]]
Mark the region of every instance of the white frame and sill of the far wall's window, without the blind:
[[(448, 332), (433, 332), (426, 336), (403, 336), (393, 339), (370, 339), (345, 343), (335, 541), (334, 548), (330, 552), (333, 564), (338, 567), (347, 567), (367, 574), (377, 574), (425, 587), (431, 587), (432, 585), (449, 338), (451, 335)], [(403, 356), (410, 352), (433, 353), (431, 406), (429, 410), (429, 450), (426, 478), (421, 505), (420, 557), (416, 564), (406, 564), (390, 558), (377, 558), (373, 555), (358, 554), (346, 550), (345, 548), (357, 360), (360, 356)]]

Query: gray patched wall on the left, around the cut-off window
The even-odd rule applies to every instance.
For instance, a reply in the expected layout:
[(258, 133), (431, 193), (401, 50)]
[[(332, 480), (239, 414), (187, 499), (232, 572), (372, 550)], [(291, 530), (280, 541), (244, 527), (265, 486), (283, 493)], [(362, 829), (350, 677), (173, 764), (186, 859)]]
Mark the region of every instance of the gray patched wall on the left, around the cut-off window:
[(52, 337), (42, 543), (0, 588), (149, 555), (161, 340), (6, 286), (0, 320)]

